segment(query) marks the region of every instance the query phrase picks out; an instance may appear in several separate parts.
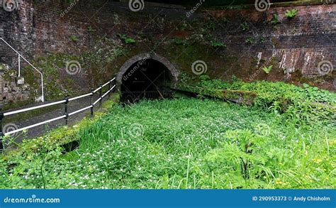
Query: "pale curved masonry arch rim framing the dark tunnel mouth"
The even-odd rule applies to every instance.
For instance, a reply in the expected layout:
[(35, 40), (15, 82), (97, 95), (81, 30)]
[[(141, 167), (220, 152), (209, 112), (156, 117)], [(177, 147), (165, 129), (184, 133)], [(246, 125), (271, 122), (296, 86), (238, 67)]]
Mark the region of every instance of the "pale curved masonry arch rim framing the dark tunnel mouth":
[(130, 69), (132, 65), (134, 65), (136, 62), (140, 62), (141, 60), (156, 60), (158, 62), (161, 62), (162, 65), (167, 67), (167, 70), (169, 70), (171, 74), (171, 79), (172, 79), (172, 87), (177, 87), (177, 81), (179, 77), (179, 71), (174, 67), (172, 62), (169, 62), (167, 58), (164, 58), (160, 55), (157, 55), (156, 53), (141, 53), (139, 55), (133, 56), (133, 58), (130, 58), (127, 60), (121, 69), (118, 72), (118, 75), (116, 77), (116, 81), (118, 83), (118, 88), (120, 89), (121, 84), (123, 82), (123, 76), (125, 75), (126, 72)]

